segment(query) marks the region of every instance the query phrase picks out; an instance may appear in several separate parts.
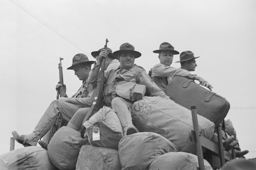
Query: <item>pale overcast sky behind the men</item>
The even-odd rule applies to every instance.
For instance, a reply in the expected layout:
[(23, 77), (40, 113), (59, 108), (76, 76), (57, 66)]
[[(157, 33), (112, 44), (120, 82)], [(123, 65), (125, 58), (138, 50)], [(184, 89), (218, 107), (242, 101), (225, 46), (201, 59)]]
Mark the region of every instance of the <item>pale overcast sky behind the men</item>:
[(112, 51), (134, 45), (147, 72), (162, 42), (200, 56), (194, 73), (230, 102), (226, 119), (246, 158), (256, 157), (256, 0), (0, 0), (0, 155), (11, 132), (31, 133), (56, 99), (59, 58), (72, 96), (81, 86), (66, 69), (73, 56), (95, 60), (106, 38)]

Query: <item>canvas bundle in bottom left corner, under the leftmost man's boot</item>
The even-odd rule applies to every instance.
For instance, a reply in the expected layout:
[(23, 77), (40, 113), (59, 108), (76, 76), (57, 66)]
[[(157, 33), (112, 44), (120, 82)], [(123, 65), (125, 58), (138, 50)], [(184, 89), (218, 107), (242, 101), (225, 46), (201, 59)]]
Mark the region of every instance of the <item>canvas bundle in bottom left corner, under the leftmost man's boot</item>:
[(0, 156), (1, 170), (58, 170), (48, 158), (47, 150), (30, 146)]

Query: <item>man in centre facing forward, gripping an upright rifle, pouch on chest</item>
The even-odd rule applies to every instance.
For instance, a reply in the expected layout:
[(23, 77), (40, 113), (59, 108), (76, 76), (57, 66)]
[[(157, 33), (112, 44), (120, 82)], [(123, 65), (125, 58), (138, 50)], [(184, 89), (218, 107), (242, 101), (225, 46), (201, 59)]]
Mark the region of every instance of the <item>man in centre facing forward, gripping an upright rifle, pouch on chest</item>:
[[(93, 68), (92, 74), (90, 74), (88, 78), (89, 83), (96, 85), (102, 59), (107, 58), (107, 56), (107, 50), (102, 49), (99, 54), (98, 62)], [(113, 52), (113, 56), (119, 60), (120, 67), (105, 71), (104, 84), (106, 86), (104, 102), (108, 107), (112, 106), (113, 111), (116, 112), (122, 125), (123, 133), (126, 136), (137, 132), (136, 127), (132, 124), (131, 113), (129, 111), (134, 101), (125, 99), (123, 96), (118, 95), (119, 93), (116, 87), (120, 81), (135, 82), (135, 84), (145, 85), (146, 91), (151, 96), (161, 96), (165, 99), (169, 99), (169, 96), (158, 88), (157, 85), (151, 82), (150, 77), (148, 77), (148, 74), (143, 68), (134, 66), (135, 59), (140, 57), (141, 54), (134, 50), (133, 45), (129, 43), (122, 44), (118, 51)]]

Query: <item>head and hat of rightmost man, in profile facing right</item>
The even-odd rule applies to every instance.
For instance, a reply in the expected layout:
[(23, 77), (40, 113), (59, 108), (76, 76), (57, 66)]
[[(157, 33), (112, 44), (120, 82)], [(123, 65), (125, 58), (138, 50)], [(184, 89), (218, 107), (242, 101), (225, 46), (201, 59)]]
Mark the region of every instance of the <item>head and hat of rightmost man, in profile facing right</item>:
[(194, 53), (192, 51), (183, 51), (180, 54), (180, 65), (182, 69), (185, 69), (187, 71), (195, 71), (195, 67), (197, 64), (195, 63), (195, 59), (198, 57), (194, 57)]

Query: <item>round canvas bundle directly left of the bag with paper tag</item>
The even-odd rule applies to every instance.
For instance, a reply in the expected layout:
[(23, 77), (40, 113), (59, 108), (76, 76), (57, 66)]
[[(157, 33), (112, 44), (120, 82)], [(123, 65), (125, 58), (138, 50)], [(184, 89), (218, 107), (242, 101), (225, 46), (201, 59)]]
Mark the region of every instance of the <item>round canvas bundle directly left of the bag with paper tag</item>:
[(84, 144), (89, 144), (87, 138), (81, 138), (78, 131), (62, 126), (49, 142), (49, 159), (60, 170), (75, 170), (79, 150)]

